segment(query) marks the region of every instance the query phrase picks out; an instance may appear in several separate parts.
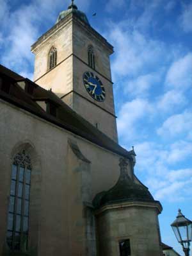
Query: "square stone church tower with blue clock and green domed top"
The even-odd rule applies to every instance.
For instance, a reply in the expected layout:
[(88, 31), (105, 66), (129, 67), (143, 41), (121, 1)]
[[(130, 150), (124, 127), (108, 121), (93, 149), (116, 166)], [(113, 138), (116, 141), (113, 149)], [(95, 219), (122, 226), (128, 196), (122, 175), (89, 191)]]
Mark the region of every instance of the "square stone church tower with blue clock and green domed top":
[(56, 24), (31, 46), (34, 81), (118, 142), (109, 56), (113, 46), (72, 1)]

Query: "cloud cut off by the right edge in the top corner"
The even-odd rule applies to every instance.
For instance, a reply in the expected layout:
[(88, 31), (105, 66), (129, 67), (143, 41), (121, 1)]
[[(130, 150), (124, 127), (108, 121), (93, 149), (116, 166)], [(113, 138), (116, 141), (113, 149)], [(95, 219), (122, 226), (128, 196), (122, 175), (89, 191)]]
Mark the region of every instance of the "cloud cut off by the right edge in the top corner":
[(185, 5), (182, 15), (180, 17), (181, 26), (185, 32), (192, 31), (191, 17), (192, 17), (192, 4)]

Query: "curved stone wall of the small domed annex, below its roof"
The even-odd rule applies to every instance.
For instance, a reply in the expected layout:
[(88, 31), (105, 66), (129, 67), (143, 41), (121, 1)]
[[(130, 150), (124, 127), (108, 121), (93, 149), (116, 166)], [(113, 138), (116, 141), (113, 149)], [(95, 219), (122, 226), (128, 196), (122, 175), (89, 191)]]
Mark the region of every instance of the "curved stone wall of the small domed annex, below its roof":
[(154, 206), (151, 203), (119, 203), (97, 213), (98, 255), (118, 256), (120, 241), (130, 239), (131, 256), (161, 256)]

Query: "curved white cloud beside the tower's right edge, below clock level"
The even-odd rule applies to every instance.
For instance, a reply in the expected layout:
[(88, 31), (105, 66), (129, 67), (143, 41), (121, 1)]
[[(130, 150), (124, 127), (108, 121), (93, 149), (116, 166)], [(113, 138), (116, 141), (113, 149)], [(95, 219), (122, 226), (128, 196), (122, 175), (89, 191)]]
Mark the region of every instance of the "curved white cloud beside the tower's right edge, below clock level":
[(133, 138), (138, 120), (153, 112), (151, 105), (145, 99), (136, 98), (125, 103), (118, 113), (117, 126), (120, 136)]

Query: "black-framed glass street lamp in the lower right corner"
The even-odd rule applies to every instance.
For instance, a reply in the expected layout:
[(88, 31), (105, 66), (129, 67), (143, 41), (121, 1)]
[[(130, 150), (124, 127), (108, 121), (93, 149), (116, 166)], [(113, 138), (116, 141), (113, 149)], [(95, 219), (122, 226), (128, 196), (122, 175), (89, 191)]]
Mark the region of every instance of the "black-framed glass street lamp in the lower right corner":
[(186, 256), (189, 256), (189, 246), (191, 242), (192, 235), (192, 221), (185, 218), (179, 209), (177, 218), (171, 224), (173, 228), (173, 232), (175, 233), (175, 237), (177, 241), (182, 245), (182, 250), (184, 251)]

